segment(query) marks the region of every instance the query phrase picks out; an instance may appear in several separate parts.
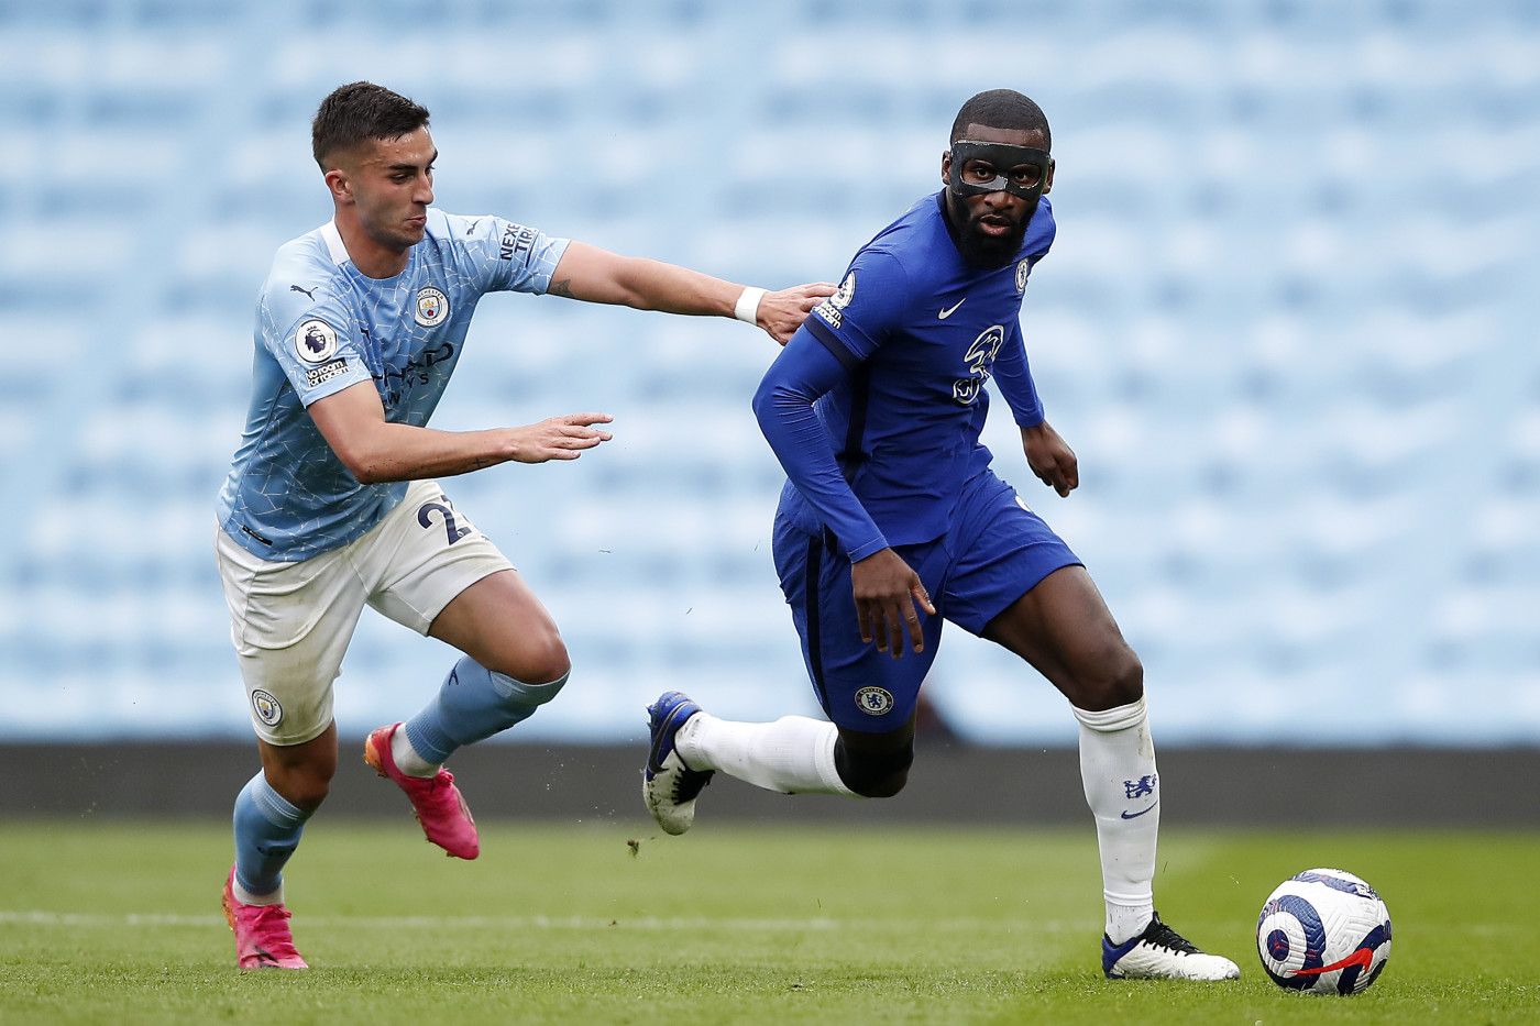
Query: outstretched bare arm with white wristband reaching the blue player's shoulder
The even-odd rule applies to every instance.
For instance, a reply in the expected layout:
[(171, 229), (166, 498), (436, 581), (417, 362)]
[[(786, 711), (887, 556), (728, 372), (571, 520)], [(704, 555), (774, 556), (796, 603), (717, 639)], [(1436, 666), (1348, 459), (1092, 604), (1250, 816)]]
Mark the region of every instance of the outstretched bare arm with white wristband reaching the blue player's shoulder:
[[(659, 310), (673, 314), (732, 317), (747, 291), (742, 285), (724, 282), (676, 263), (625, 257), (582, 242), (567, 246), (556, 271), (551, 273), (551, 296), (567, 296), (591, 303), (619, 303), (636, 310)], [(792, 333), (807, 319), (808, 311), (835, 287), (827, 282), (796, 285), (778, 293), (764, 293), (758, 308), (745, 303), (741, 319), (770, 333), (785, 345)], [(753, 299), (753, 293), (747, 296)]]

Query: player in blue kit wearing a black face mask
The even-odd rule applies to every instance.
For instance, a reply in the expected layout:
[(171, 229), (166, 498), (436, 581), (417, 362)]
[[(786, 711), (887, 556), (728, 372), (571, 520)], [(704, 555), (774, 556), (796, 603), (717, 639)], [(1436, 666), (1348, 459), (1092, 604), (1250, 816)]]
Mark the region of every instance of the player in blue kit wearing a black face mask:
[(993, 376), (1032, 471), (1061, 496), (1080, 482), (1043, 416), (1019, 324), (1027, 277), (1053, 242), (1049, 149), (1047, 119), (1019, 92), (964, 103), (941, 157), (946, 188), (856, 253), (755, 396), (788, 478), (776, 570), (833, 723), (732, 723), (668, 692), (648, 707), (644, 795), (665, 832), (684, 833), (716, 770), (785, 793), (898, 793), (950, 619), (1032, 664), (1080, 721), (1103, 972), (1227, 980), (1235, 963), (1155, 914), (1160, 776), (1138, 656), (1080, 559), (979, 444)]

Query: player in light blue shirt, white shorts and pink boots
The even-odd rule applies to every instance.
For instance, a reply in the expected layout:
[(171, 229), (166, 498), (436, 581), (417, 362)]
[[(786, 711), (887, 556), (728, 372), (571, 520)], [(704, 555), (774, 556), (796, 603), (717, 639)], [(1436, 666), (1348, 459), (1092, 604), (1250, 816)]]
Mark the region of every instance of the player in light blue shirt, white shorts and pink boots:
[(550, 613), (433, 478), (576, 459), (610, 439), (594, 427), (610, 417), (428, 428), (480, 297), (736, 316), (785, 342), (833, 293), (744, 288), (434, 210), (428, 111), (367, 82), (322, 102), (313, 146), (336, 214), (282, 246), (262, 288), (251, 411), (217, 507), (231, 639), (262, 755), (236, 800), (223, 897), (242, 967), (306, 967), (282, 869), (337, 767), (333, 679), (363, 605), (465, 653), (425, 709), (365, 743), (365, 759), (450, 855), (476, 858), (480, 841), (444, 763), (567, 682)]

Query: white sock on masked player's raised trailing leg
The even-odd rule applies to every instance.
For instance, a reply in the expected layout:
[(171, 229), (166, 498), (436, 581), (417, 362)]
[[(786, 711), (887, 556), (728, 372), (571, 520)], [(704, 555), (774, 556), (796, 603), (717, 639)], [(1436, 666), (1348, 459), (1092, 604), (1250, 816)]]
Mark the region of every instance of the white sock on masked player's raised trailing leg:
[(807, 716), (736, 723), (696, 713), (675, 735), (675, 746), (690, 769), (722, 770), (765, 790), (855, 796), (835, 769), (838, 739), (835, 724)]

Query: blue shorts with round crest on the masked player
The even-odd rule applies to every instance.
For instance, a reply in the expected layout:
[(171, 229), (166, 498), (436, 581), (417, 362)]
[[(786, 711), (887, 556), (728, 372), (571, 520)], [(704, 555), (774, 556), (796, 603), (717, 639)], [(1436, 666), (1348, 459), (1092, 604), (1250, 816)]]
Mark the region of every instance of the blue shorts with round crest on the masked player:
[(1038, 581), (1080, 564), (1016, 490), (987, 468), (962, 487), (946, 535), (895, 552), (919, 575), (936, 607), (935, 616), (918, 610), (926, 650), (916, 655), (906, 635), (898, 659), (878, 652), (876, 642), (861, 641), (850, 559), (822, 535), (776, 518), (776, 572), (802, 639), (802, 659), (824, 713), (847, 730), (886, 733), (909, 721), (936, 658), (944, 619), (983, 635), (989, 621)]

